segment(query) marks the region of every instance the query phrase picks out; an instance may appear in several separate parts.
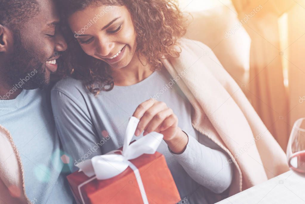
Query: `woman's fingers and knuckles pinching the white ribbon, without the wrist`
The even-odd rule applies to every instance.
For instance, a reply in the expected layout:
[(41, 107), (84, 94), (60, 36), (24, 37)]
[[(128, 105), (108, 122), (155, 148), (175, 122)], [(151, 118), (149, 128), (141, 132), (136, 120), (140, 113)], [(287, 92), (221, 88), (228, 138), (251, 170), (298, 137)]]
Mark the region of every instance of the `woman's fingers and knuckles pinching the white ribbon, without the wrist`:
[(178, 118), (164, 102), (146, 100), (138, 105), (133, 116), (140, 119), (135, 131), (136, 136), (143, 130), (143, 136), (155, 131), (163, 134), (163, 140), (171, 140), (178, 131)]

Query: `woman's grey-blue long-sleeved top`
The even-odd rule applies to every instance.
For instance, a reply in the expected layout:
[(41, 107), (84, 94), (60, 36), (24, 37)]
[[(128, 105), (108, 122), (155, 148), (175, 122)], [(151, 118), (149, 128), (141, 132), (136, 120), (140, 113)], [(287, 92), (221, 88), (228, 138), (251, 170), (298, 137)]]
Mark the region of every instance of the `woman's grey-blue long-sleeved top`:
[(136, 107), (156, 98), (174, 111), (178, 126), (189, 138), (182, 154), (172, 153), (164, 140), (157, 149), (166, 158), (181, 203), (214, 203), (215, 194), (231, 184), (232, 166), (225, 165), (228, 155), (192, 127), (191, 104), (165, 69), (153, 72), (139, 83), (115, 86), (96, 97), (81, 81), (67, 78), (56, 84), (51, 96), (63, 147), (76, 164), (121, 147), (128, 119)]

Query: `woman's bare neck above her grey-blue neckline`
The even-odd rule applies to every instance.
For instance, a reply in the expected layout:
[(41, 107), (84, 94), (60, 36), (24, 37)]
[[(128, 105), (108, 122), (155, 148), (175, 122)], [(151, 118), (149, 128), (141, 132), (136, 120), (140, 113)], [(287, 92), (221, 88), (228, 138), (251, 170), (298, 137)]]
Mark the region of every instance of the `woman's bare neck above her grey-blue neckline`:
[[(141, 61), (144, 65), (141, 63)], [(131, 62), (126, 67), (113, 69), (112, 77), (114, 80), (114, 85), (131, 86), (149, 77), (154, 70), (152, 70), (152, 67), (146, 62), (145, 59), (141, 58), (141, 61), (139, 60), (138, 55), (135, 54)]]

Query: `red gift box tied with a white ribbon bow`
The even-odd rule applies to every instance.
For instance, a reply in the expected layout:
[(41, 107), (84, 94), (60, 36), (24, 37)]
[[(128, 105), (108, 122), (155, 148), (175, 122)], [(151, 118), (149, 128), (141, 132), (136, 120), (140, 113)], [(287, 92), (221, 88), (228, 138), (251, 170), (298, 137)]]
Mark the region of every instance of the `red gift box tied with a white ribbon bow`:
[[(164, 155), (159, 152), (143, 154), (129, 161), (138, 168), (149, 204), (172, 204), (181, 200)], [(106, 180), (89, 178), (82, 171), (70, 174), (67, 179), (79, 203), (82, 203), (81, 195), (86, 204), (143, 203), (138, 181), (131, 167)], [(90, 179), (89, 183), (78, 189), (80, 184)]]

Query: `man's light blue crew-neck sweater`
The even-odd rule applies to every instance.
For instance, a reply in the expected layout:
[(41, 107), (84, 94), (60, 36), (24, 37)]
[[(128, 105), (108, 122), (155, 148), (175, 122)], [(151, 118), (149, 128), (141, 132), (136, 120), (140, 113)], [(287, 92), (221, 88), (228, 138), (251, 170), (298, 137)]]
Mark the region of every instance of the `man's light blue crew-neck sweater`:
[(19, 151), (31, 203), (69, 204), (74, 199), (63, 169), (65, 153), (46, 96), (39, 89), (23, 90), (16, 99), (0, 100), (0, 124), (9, 130)]

